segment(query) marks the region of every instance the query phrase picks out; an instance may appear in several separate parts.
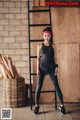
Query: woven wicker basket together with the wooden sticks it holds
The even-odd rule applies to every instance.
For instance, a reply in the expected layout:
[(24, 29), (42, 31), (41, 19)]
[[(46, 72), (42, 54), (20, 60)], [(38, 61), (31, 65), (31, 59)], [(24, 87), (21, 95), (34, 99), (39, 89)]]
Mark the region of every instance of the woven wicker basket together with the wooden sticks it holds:
[(26, 105), (25, 79), (19, 75), (11, 57), (0, 54), (0, 79), (3, 79), (3, 102), (6, 107)]

